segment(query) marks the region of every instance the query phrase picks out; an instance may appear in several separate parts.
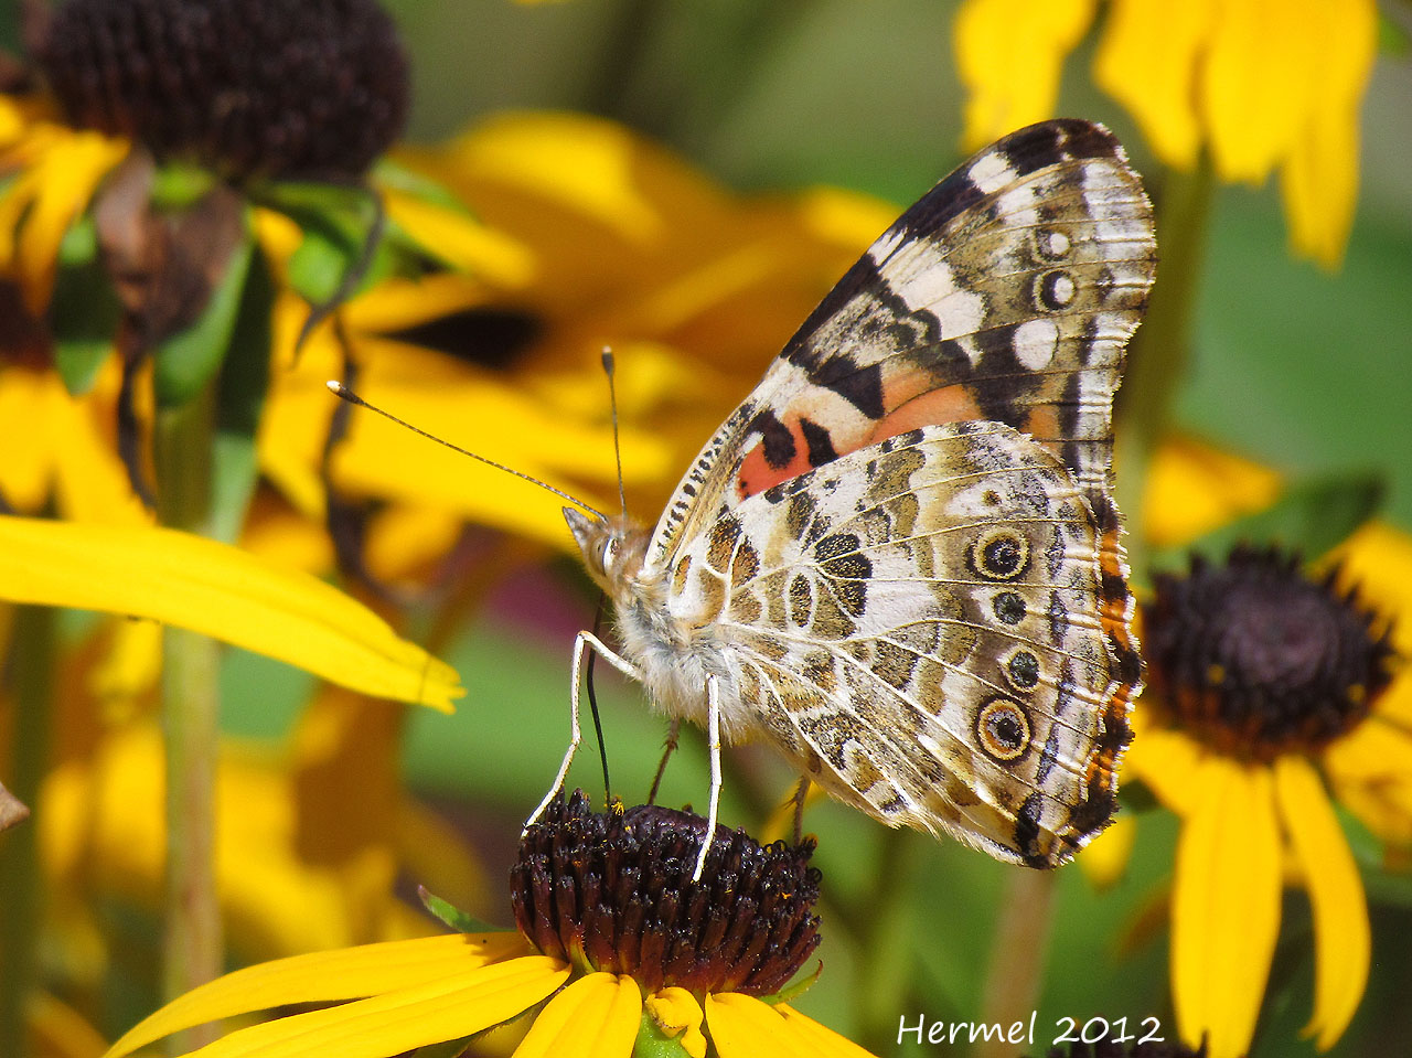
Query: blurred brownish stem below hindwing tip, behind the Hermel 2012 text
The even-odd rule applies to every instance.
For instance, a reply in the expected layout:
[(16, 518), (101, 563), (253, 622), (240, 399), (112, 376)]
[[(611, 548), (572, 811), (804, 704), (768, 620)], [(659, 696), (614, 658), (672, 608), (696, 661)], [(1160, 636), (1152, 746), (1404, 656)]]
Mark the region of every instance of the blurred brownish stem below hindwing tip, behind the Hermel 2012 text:
[[(1007, 872), (995, 939), (981, 997), (981, 1023), (1011, 1026), (1029, 1020), (1043, 985), (1049, 928), (1053, 924), (1056, 874), (1015, 867)], [(1003, 1040), (977, 1044), (974, 1058), (1011, 1058), (1015, 1045)]]

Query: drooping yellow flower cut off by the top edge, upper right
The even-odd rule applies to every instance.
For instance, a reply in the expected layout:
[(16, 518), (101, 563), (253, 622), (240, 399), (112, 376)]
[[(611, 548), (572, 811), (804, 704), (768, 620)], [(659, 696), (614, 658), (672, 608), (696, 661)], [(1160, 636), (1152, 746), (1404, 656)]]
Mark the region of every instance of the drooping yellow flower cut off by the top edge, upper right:
[[(1138, 120), (1166, 164), (1209, 151), (1217, 175), (1279, 172), (1293, 247), (1337, 264), (1358, 191), (1358, 110), (1377, 49), (1374, 0), (1220, 0), (1107, 6), (1093, 76)], [(969, 93), (966, 137), (981, 144), (1049, 117), (1065, 59), (1093, 0), (967, 0), (956, 54)]]

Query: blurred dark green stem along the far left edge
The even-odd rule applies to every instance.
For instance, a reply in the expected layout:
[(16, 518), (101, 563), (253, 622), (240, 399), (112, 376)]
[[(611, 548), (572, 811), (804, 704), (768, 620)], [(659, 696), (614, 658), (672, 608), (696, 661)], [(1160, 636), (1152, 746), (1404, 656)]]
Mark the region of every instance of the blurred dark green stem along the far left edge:
[(54, 691), (55, 612), (44, 606), (14, 610), (10, 672), (14, 739), (10, 792), (35, 816), (0, 833), (0, 1054), (28, 1054), (25, 1003), (34, 994), (40, 949), (40, 853), (35, 819), (44, 770), (49, 761)]

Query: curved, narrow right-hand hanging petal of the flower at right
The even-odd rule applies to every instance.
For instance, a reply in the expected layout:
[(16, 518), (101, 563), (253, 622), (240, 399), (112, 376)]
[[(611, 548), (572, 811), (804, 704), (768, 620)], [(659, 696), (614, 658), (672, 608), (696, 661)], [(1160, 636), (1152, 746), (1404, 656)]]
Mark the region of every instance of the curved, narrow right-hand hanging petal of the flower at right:
[(1275, 794), (1315, 914), (1315, 1013), (1305, 1026), (1320, 1051), (1333, 1047), (1368, 983), (1368, 903), (1348, 839), (1308, 760), (1275, 761)]

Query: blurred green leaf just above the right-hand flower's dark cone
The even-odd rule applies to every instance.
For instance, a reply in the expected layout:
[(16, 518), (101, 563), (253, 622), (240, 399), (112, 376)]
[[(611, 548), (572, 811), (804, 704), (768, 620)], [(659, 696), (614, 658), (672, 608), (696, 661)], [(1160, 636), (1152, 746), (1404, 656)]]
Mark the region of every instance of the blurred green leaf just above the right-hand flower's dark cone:
[(1187, 555), (1223, 561), (1236, 544), (1281, 544), (1317, 558), (1347, 540), (1382, 506), (1387, 487), (1377, 472), (1312, 477), (1291, 485), (1274, 504), (1207, 533), (1182, 548), (1154, 552), (1159, 569), (1185, 568)]

